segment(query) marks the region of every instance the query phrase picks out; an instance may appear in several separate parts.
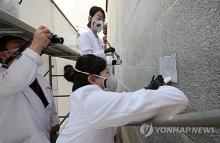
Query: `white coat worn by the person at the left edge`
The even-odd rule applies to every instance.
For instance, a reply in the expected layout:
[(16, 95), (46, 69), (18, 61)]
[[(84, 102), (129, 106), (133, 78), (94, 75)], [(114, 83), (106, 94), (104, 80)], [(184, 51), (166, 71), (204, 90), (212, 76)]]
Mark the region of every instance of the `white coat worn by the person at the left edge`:
[[(0, 143), (49, 143), (49, 129), (59, 123), (51, 88), (36, 72), (40, 56), (27, 48), (8, 68), (0, 68)], [(29, 85), (38, 80), (45, 108)]]

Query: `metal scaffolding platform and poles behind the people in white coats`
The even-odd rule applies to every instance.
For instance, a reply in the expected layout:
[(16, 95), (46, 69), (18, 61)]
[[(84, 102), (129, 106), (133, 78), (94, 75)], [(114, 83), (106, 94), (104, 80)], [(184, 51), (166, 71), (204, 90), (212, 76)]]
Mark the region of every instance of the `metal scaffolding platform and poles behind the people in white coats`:
[[(71, 27), (73, 27), (77, 37), (79, 37), (80, 35), (78, 31), (75, 29), (75, 27), (70, 23), (70, 21), (58, 8), (58, 6), (52, 0), (51, 2), (60, 11), (63, 17), (69, 22)], [(20, 19), (14, 17), (13, 15), (9, 14), (7, 11), (0, 8), (0, 36), (13, 35), (13, 36), (22, 37), (25, 40), (30, 40), (34, 35), (35, 30), (36, 29), (33, 28), (32, 26), (24, 23)], [(76, 61), (76, 59), (80, 56), (80, 54), (63, 44), (50, 44), (44, 53), (49, 56), (49, 69), (44, 74), (44, 76), (49, 74), (49, 83), (53, 88), (53, 82), (52, 82), (53, 77), (63, 76), (63, 75), (53, 75), (52, 69), (54, 65), (52, 65), (52, 57), (59, 57), (59, 58)], [(56, 95), (54, 97), (68, 97), (68, 96)], [(63, 117), (64, 116), (59, 116), (59, 118), (63, 118)], [(62, 124), (63, 122), (64, 121), (61, 121), (60, 123)]]

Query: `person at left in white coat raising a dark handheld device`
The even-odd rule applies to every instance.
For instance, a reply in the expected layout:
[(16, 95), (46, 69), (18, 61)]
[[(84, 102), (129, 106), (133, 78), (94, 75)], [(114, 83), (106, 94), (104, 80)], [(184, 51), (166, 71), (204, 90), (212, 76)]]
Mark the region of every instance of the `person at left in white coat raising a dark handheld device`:
[[(24, 44), (17, 36), (0, 38), (0, 142), (49, 143), (50, 131), (59, 130), (51, 88), (37, 71), (40, 54), (50, 43), (49, 29), (40, 26), (28, 48), (10, 63), (12, 54)], [(52, 128), (51, 128), (52, 127)]]

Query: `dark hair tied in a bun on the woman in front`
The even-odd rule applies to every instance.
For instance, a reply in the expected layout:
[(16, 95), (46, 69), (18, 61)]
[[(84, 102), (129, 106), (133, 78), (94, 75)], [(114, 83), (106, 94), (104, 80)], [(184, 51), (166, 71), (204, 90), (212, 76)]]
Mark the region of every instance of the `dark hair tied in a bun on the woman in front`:
[[(75, 68), (83, 72), (99, 75), (106, 68), (106, 61), (92, 54), (83, 55), (77, 59)], [(88, 75), (75, 71), (72, 65), (64, 67), (64, 78), (74, 83), (73, 91), (90, 84)]]

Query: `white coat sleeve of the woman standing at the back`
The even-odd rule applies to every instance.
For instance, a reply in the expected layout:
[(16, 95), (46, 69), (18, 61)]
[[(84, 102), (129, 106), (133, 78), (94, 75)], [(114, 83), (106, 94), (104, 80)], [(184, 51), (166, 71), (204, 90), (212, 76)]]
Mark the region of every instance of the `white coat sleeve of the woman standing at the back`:
[(96, 56), (105, 58), (105, 53), (104, 50), (100, 51), (94, 51), (92, 48), (92, 41), (89, 39), (88, 33), (82, 33), (80, 35), (80, 53), (81, 55), (86, 55), (86, 54), (94, 54)]

